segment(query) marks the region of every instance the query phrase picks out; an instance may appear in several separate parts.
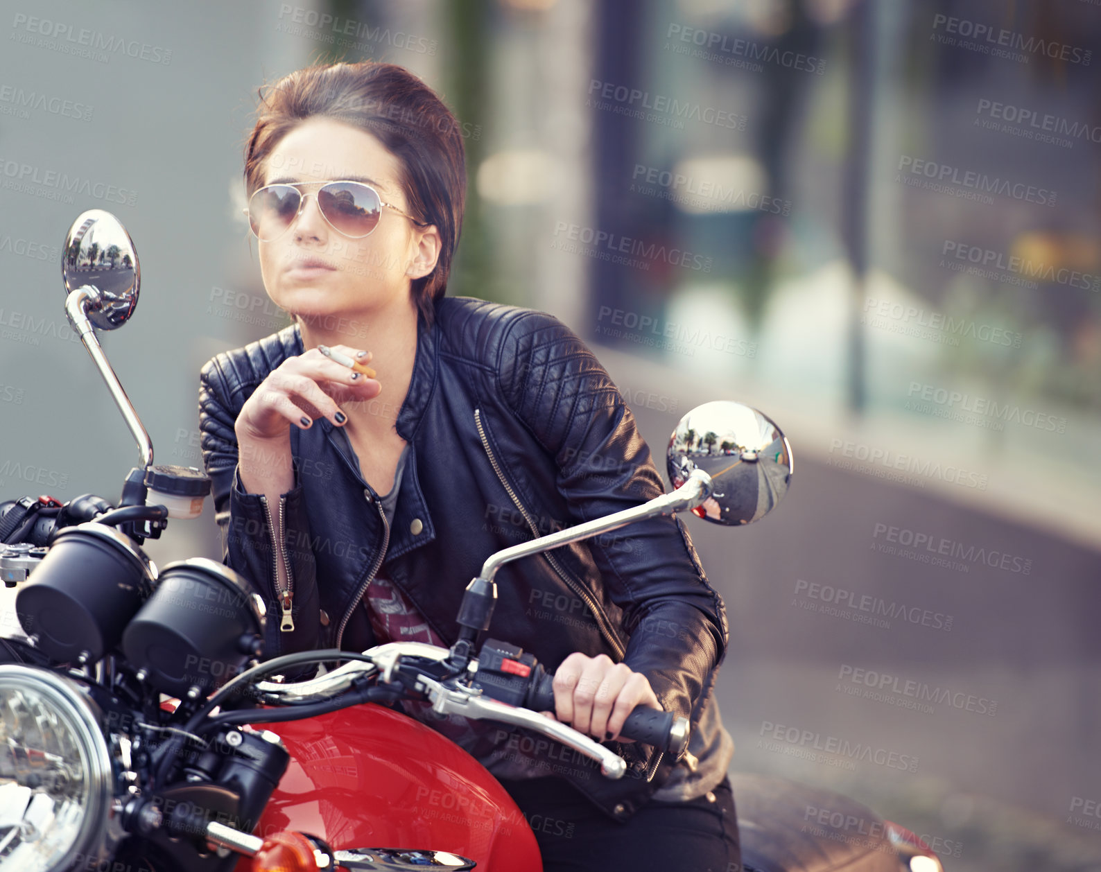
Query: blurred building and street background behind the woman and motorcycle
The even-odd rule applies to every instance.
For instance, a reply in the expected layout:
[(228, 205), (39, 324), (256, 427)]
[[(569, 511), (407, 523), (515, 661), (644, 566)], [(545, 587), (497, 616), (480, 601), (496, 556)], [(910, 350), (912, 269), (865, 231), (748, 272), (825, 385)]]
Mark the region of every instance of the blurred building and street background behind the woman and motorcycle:
[[(793, 444), (766, 523), (691, 527), (734, 767), (850, 793), (948, 869), (1101, 868), (1097, 3), (0, 7), (6, 498), (115, 499), (135, 457), (64, 319), (73, 219), (134, 238), (141, 304), (101, 339), (157, 461), (198, 466), (199, 367), (287, 323), (240, 217), (255, 89), (402, 64), (462, 123), (451, 293), (563, 318), (659, 467), (706, 400)], [(216, 555), (210, 509), (150, 552)]]

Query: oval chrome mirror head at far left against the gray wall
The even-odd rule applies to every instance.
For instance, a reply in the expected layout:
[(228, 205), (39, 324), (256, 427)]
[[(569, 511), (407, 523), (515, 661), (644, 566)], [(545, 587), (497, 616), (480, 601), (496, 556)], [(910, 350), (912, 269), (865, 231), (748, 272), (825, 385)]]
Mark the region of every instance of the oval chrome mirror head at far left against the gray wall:
[(63, 251), (66, 296), (78, 287), (95, 288), (85, 304), (88, 320), (101, 330), (126, 324), (138, 306), (141, 270), (122, 221), (109, 211), (89, 209), (73, 222)]

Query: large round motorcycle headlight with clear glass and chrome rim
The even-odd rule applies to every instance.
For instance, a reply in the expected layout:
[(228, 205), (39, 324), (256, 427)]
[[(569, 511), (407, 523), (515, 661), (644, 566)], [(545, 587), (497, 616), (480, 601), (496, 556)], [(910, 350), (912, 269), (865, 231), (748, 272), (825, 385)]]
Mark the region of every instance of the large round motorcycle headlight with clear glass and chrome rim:
[(92, 705), (59, 675), (0, 665), (0, 872), (98, 862), (111, 795)]

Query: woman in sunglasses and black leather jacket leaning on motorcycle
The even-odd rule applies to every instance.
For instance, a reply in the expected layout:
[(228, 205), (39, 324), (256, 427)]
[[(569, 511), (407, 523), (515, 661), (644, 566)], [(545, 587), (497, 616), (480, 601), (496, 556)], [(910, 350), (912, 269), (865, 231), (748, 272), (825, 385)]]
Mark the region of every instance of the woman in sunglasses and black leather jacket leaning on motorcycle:
[[(449, 645), (489, 554), (644, 502), (661, 478), (619, 391), (563, 324), (445, 296), (466, 166), (459, 124), (430, 89), (397, 66), (337, 64), (261, 98), (249, 220), (264, 287), (295, 324), (203, 368), (225, 559), (268, 599), (268, 656)], [(510, 564), (498, 582), (490, 634), (555, 668), (559, 720), (600, 741), (637, 705), (693, 724), (679, 762), (615, 745), (633, 777), (612, 782), (502, 728), (427, 719), (528, 820), (557, 821), (535, 827), (546, 868), (740, 869), (733, 746), (711, 699), (726, 617), (680, 522)]]

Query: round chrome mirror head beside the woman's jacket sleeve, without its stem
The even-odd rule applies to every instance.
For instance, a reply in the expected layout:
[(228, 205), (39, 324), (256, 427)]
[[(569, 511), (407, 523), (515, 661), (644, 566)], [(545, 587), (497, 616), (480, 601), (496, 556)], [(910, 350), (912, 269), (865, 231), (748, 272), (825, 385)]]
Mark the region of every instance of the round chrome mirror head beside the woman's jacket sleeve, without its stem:
[(666, 468), (674, 488), (694, 469), (711, 477), (712, 491), (693, 512), (717, 524), (759, 521), (776, 508), (792, 482), (794, 462), (775, 422), (729, 400), (688, 412), (669, 437)]

